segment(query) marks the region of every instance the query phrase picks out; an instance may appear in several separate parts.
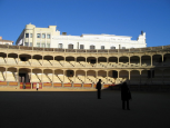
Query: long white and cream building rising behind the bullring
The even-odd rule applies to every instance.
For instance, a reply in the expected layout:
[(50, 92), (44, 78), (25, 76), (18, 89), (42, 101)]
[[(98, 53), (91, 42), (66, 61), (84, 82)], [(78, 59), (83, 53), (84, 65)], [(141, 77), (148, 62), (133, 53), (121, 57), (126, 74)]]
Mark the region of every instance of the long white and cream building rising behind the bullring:
[(37, 28), (34, 24), (27, 24), (19, 36), (16, 45), (40, 48), (62, 49), (130, 49), (146, 48), (146, 32), (141, 32), (137, 40), (132, 37), (116, 35), (81, 35), (67, 36), (60, 33), (57, 26)]

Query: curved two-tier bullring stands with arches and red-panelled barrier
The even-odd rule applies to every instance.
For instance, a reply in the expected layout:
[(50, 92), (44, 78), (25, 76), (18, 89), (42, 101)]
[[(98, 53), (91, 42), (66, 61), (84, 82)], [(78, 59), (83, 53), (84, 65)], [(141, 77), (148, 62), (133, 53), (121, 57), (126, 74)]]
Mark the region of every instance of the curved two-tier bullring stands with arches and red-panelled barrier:
[(170, 46), (133, 49), (57, 49), (0, 45), (0, 88), (169, 89)]

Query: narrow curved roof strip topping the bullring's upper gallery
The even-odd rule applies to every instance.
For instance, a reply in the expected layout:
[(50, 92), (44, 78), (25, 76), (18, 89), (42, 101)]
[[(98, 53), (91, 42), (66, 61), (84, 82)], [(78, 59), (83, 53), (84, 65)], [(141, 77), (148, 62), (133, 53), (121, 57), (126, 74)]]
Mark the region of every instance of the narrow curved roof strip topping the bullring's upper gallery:
[(133, 49), (60, 49), (60, 48), (39, 48), (39, 47), (0, 45), (0, 49), (19, 49), (19, 50), (32, 50), (32, 51), (39, 50), (39, 51), (53, 51), (53, 52), (116, 53), (116, 52), (167, 51), (167, 50), (170, 50), (170, 45), (169, 46), (159, 46), (159, 47), (148, 47), (148, 48), (133, 48)]

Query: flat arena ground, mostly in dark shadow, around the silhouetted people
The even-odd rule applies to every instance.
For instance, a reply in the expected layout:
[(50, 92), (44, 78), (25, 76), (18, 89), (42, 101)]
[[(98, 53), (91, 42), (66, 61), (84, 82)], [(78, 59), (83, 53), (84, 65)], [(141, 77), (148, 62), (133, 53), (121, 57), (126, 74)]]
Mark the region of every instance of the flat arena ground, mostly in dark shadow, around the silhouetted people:
[(0, 128), (169, 128), (170, 92), (0, 91)]

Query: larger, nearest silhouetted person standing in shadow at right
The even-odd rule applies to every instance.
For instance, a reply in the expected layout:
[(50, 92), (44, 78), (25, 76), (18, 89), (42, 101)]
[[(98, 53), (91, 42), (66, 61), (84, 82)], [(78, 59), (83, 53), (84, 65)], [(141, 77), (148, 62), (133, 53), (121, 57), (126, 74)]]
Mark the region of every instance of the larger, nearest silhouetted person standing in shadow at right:
[(131, 92), (128, 88), (127, 82), (123, 82), (121, 85), (121, 100), (122, 100), (122, 109), (126, 109), (126, 102), (127, 102), (127, 110), (130, 110), (129, 108), (129, 100), (131, 99)]

